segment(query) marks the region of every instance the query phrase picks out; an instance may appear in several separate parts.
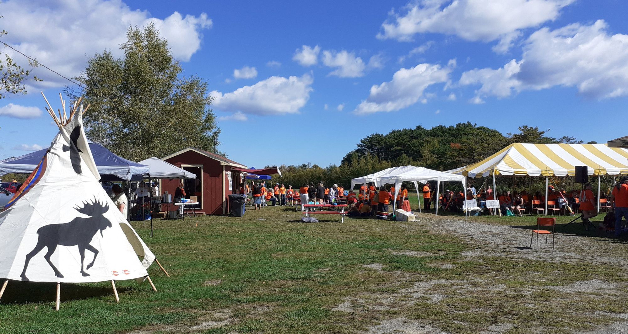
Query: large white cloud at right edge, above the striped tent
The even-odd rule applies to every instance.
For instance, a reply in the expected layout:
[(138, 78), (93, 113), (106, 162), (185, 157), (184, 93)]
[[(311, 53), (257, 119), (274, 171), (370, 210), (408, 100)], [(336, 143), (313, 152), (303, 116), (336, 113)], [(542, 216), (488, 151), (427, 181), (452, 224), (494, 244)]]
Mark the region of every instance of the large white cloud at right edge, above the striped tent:
[(462, 74), (461, 85), (481, 85), (476, 97), (507, 97), (522, 90), (577, 87), (592, 99), (628, 95), (628, 35), (610, 35), (607, 24), (542, 28), (524, 42), (520, 61)]

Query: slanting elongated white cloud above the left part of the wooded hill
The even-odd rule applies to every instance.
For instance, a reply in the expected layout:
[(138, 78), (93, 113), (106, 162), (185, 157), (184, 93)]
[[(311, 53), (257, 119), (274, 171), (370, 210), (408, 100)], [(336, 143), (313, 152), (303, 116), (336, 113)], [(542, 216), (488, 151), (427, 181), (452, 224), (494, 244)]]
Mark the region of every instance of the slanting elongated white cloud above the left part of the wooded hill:
[(423, 91), (435, 83), (447, 82), (451, 68), (440, 65), (419, 64), (401, 68), (393, 80), (373, 85), (371, 93), (354, 110), (356, 114), (372, 114), (378, 111), (396, 111), (425, 100)]

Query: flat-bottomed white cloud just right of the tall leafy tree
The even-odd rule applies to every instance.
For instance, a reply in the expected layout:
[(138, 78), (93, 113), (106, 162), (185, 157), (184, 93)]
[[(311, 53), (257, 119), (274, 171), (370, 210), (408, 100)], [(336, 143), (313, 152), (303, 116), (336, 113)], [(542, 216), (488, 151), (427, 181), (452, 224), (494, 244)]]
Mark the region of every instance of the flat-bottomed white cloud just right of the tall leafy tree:
[(312, 91), (314, 79), (309, 74), (301, 77), (270, 77), (252, 86), (222, 94), (214, 90), (214, 109), (256, 115), (296, 114)]

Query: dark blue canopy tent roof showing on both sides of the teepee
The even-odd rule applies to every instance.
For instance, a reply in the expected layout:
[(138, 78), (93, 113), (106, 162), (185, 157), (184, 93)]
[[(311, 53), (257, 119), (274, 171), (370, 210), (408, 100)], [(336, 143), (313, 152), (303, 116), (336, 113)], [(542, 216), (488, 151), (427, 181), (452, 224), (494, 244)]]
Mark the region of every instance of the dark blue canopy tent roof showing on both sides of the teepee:
[[(89, 141), (89, 148), (100, 173), (100, 181), (141, 181), (144, 174), (148, 173), (148, 166), (121, 158), (99, 144)], [(17, 158), (0, 160), (0, 175), (30, 174), (40, 163), (46, 151), (48, 149), (40, 149)]]

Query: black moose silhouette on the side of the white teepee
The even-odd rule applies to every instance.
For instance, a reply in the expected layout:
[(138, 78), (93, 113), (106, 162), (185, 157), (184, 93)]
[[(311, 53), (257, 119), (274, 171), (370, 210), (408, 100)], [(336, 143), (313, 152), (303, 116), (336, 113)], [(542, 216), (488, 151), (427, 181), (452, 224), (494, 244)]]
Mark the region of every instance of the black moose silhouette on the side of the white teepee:
[(104, 218), (102, 215), (109, 211), (109, 205), (100, 203), (95, 197), (92, 202), (83, 202), (84, 207), (75, 208), (78, 212), (83, 213), (84, 215), (90, 216), (89, 218), (76, 217), (69, 223), (64, 224), (50, 224), (40, 227), (37, 230), (37, 234), (39, 235), (39, 239), (37, 240), (37, 244), (35, 245), (35, 249), (30, 253), (26, 254), (26, 261), (24, 261), (24, 269), (20, 277), (22, 277), (23, 281), (28, 281), (28, 277), (26, 277), (26, 268), (28, 267), (28, 262), (31, 261), (33, 256), (35, 256), (38, 252), (40, 252), (43, 247), (48, 247), (48, 252), (43, 256), (50, 267), (55, 271), (55, 276), (63, 278), (63, 275), (57, 267), (50, 261), (50, 256), (55, 252), (58, 245), (62, 246), (75, 246), (78, 245), (78, 252), (80, 254), (80, 272), (83, 276), (89, 276), (87, 272), (83, 270), (84, 261), (85, 261), (85, 249), (87, 251), (94, 253), (94, 259), (90, 264), (87, 265), (89, 269), (94, 266), (94, 262), (96, 261), (96, 257), (98, 256), (98, 249), (95, 249), (89, 243), (100, 231), (100, 236), (102, 237), (102, 231), (107, 229), (107, 227), (111, 227), (111, 221), (107, 218)]

